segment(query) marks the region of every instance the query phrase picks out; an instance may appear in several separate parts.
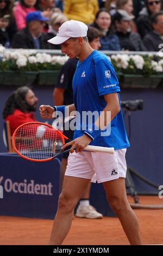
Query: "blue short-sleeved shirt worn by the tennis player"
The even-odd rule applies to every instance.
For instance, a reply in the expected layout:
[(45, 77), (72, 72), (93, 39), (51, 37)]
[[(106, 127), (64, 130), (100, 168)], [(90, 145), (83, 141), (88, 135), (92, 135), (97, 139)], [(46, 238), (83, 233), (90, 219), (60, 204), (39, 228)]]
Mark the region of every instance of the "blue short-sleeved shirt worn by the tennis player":
[[(116, 72), (108, 57), (101, 52), (93, 51), (83, 62), (78, 62), (73, 76), (73, 97), (77, 115), (77, 125), (74, 138), (80, 137), (90, 127), (89, 120), (82, 118), (83, 112), (100, 113), (106, 106), (105, 94), (118, 93), (120, 101), (120, 86)], [(121, 106), (121, 104), (120, 104)], [(95, 123), (97, 118), (92, 121)], [(126, 129), (124, 127), (122, 109), (111, 121), (111, 129), (108, 136), (97, 136), (90, 145), (102, 147), (114, 147), (115, 149), (130, 146)], [(107, 134), (107, 133), (106, 133)]]

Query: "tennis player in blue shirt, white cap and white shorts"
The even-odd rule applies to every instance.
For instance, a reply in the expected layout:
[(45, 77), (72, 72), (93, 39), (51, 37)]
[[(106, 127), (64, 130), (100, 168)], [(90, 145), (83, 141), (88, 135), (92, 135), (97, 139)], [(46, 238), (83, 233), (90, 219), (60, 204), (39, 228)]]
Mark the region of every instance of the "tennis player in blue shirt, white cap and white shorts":
[[(129, 147), (120, 106), (120, 87), (115, 70), (105, 54), (93, 50), (87, 41), (87, 26), (79, 21), (66, 21), (52, 44), (61, 44), (61, 52), (70, 58), (79, 58), (73, 77), (74, 104), (70, 106), (40, 106), (42, 118), (52, 118), (60, 111), (65, 114), (78, 111), (80, 127), (74, 131), (74, 139), (64, 145), (71, 145), (64, 184), (59, 197), (50, 244), (61, 245), (71, 227), (74, 206), (83, 191), (92, 182), (103, 183), (111, 208), (120, 219), (131, 245), (141, 245), (139, 223), (127, 200), (126, 149)], [(84, 112), (98, 111), (95, 123), (82, 120)], [(108, 118), (111, 112), (111, 120)], [(105, 136), (104, 127), (111, 126), (110, 135)], [(107, 129), (106, 129), (107, 130)], [(114, 147), (115, 153), (92, 153), (83, 151), (87, 145)], [(75, 150), (75, 151), (74, 151)], [(108, 237), (109, 243), (109, 237)]]

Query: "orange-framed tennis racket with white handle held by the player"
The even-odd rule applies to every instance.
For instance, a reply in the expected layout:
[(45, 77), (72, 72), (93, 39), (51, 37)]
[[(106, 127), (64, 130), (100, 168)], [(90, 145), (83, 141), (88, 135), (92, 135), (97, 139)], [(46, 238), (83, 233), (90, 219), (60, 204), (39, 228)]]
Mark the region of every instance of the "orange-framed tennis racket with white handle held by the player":
[[(61, 149), (65, 140), (70, 141), (63, 133), (53, 126), (30, 122), (20, 125), (12, 136), (12, 145), (18, 155), (24, 159), (43, 162), (70, 151)], [(88, 145), (86, 151), (114, 153), (114, 148)]]

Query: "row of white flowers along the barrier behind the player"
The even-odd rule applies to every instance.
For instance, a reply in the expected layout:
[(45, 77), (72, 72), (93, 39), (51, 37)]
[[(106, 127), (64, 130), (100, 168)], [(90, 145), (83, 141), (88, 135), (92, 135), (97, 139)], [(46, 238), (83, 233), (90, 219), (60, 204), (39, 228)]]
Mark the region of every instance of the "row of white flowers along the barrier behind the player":
[[(60, 69), (68, 57), (52, 56), (47, 53), (37, 53), (35, 50), (5, 50), (0, 45), (0, 70), (39, 71)], [(3, 58), (2, 58), (3, 56)], [(153, 75), (163, 72), (163, 53), (158, 52), (155, 56), (141, 56), (139, 54), (112, 54), (108, 56), (115, 70), (124, 74)]]

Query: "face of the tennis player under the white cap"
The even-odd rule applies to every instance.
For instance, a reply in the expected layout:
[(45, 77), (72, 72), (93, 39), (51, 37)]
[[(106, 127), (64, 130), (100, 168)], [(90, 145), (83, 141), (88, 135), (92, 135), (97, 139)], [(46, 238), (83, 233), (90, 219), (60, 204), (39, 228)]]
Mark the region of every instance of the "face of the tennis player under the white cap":
[(80, 55), (82, 38), (70, 38), (61, 44), (61, 52), (67, 54), (68, 57), (76, 58)]

